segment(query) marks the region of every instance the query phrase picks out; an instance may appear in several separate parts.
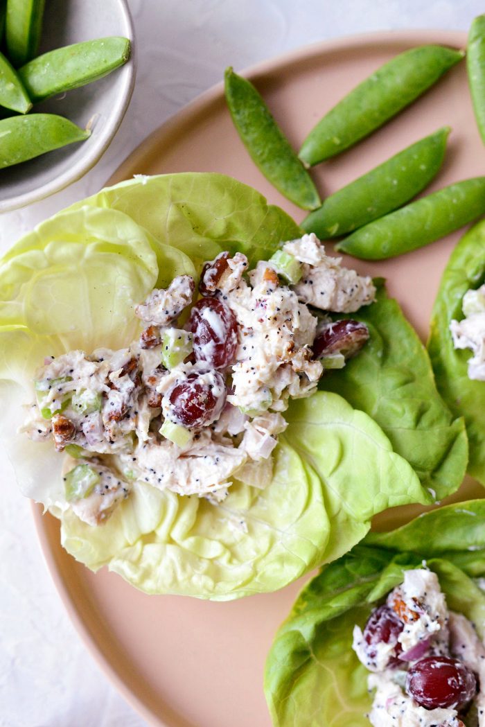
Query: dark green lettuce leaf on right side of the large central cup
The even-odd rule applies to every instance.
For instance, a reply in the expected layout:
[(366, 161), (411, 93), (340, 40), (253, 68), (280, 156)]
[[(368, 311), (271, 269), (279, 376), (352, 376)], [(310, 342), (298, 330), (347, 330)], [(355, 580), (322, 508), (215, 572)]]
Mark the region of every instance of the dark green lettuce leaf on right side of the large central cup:
[(368, 326), (369, 341), (345, 369), (326, 372), (319, 387), (366, 411), (436, 499), (452, 494), (468, 462), (465, 422), (438, 394), (416, 332), (384, 289), (377, 302), (347, 317)]

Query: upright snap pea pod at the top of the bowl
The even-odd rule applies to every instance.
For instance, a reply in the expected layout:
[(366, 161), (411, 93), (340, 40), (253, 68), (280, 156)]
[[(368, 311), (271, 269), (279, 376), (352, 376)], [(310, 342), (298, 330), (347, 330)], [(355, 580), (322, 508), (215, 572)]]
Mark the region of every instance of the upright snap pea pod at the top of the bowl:
[(41, 38), (45, 0), (7, 0), (7, 55), (16, 67), (36, 55)]

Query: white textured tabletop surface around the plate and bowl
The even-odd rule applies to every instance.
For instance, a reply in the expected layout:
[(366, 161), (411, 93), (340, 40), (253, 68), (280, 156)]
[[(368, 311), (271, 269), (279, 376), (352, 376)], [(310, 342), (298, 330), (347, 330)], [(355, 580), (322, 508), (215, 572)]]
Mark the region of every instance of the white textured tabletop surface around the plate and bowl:
[[(149, 132), (220, 81), (227, 65), (241, 70), (310, 42), (366, 31), (465, 31), (484, 12), (481, 0), (129, 0), (129, 6), (137, 83), (115, 140), (75, 185), (1, 215), (0, 252), (102, 187)], [(0, 461), (0, 478), (0, 727), (145, 726), (69, 622), (7, 462)]]

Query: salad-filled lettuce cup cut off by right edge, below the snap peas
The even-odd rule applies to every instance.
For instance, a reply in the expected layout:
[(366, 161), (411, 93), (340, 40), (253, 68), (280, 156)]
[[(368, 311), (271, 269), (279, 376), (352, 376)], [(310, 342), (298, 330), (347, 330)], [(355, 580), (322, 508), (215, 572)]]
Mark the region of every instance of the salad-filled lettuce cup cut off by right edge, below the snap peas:
[(485, 221), (449, 257), (433, 306), (428, 350), (438, 390), (465, 417), (468, 472), (485, 484)]

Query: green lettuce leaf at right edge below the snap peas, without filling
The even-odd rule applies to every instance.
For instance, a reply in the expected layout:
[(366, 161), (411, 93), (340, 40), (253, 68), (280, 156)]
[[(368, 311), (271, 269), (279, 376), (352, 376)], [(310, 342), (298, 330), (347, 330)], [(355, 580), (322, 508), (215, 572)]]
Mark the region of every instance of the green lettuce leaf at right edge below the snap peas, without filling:
[(468, 472), (485, 485), (485, 383), (468, 378), (470, 350), (455, 350), (449, 324), (463, 318), (462, 297), (485, 281), (485, 220), (461, 238), (441, 277), (430, 323), (428, 351), (438, 390), (454, 413), (465, 417), (470, 442)]

